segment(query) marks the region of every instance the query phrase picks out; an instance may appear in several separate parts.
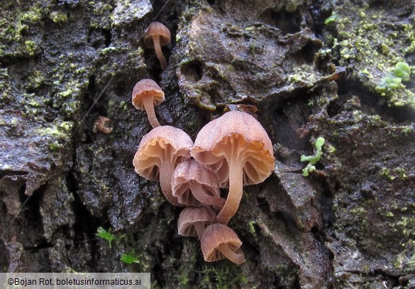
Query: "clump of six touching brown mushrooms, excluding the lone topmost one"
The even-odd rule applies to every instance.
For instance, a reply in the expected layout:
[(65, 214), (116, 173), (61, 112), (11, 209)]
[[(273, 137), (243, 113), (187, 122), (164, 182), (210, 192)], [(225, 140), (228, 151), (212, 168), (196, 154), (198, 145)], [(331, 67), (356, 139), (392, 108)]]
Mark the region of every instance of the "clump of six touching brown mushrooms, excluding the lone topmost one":
[[(160, 125), (154, 105), (164, 93), (154, 81), (143, 79), (133, 89), (135, 108), (147, 111), (153, 126), (138, 145), (135, 172), (160, 188), (180, 212), (177, 232), (198, 237), (205, 261), (227, 258), (243, 263), (242, 242), (228, 227), (243, 195), (243, 186), (260, 183), (274, 169), (272, 143), (252, 115), (229, 111), (202, 128), (195, 142), (186, 132)], [(221, 198), (220, 188), (229, 188)]]

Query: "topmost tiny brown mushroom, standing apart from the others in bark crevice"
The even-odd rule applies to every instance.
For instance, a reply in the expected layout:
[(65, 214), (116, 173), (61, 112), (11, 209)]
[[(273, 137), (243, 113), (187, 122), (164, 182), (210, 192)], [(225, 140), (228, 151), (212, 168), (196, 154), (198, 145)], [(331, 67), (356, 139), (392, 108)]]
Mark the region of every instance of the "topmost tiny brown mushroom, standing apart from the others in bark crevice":
[(169, 44), (170, 42), (170, 30), (160, 22), (153, 22), (148, 26), (143, 35), (144, 44), (148, 48), (154, 48), (155, 55), (160, 60), (160, 67), (165, 70), (167, 62), (165, 56), (161, 51), (161, 47)]

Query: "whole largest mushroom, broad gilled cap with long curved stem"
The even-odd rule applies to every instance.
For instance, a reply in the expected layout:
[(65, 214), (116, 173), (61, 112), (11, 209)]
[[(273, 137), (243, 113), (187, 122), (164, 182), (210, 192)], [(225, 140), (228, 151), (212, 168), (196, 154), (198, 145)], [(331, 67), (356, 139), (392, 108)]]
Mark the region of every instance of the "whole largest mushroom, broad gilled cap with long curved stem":
[(230, 111), (199, 131), (192, 157), (215, 172), (219, 186), (229, 187), (216, 221), (228, 224), (239, 208), (243, 186), (260, 183), (274, 169), (272, 143), (252, 115)]

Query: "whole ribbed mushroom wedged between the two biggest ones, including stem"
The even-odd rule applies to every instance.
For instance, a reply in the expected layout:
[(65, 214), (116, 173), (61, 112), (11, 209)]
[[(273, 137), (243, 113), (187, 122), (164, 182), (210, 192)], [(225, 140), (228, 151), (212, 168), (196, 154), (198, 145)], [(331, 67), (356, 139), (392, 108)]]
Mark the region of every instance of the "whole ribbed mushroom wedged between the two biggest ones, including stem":
[(220, 197), (215, 174), (194, 159), (177, 165), (172, 179), (173, 196), (183, 205), (213, 205), (221, 210), (225, 199)]

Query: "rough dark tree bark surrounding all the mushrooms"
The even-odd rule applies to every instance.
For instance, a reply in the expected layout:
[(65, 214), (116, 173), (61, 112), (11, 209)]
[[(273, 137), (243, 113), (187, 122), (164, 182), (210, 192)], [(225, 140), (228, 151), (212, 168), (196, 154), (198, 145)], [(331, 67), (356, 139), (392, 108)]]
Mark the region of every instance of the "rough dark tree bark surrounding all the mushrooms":
[[(1, 1), (0, 271), (150, 272), (155, 288), (413, 288), (414, 7)], [(164, 72), (142, 41), (152, 21), (172, 33)], [(397, 62), (412, 77), (391, 89), (382, 79)], [(131, 91), (144, 78), (165, 91), (160, 123), (193, 140), (223, 111), (258, 108), (276, 162), (229, 224), (243, 265), (204, 262), (199, 241), (177, 234), (181, 209), (135, 174), (151, 127)], [(99, 116), (111, 133), (94, 129)], [(305, 177), (300, 156), (317, 137), (323, 157)]]

